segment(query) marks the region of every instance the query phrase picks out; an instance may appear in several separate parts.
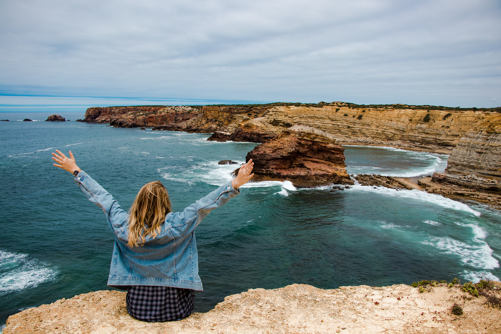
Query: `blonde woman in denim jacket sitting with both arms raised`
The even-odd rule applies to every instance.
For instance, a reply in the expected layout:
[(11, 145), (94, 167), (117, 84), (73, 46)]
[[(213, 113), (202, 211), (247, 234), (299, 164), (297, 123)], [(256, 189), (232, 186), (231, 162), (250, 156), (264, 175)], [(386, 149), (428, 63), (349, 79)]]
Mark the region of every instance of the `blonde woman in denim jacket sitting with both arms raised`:
[(203, 290), (198, 276), (195, 227), (215, 208), (240, 193), (254, 176), (252, 159), (225, 185), (185, 208), (171, 212), (167, 189), (160, 181), (144, 185), (129, 213), (87, 173), (70, 151), (52, 153), (56, 167), (75, 176), (87, 198), (99, 205), (115, 233), (108, 285), (127, 290), (127, 311), (143, 321), (181, 320), (191, 314), (194, 293)]

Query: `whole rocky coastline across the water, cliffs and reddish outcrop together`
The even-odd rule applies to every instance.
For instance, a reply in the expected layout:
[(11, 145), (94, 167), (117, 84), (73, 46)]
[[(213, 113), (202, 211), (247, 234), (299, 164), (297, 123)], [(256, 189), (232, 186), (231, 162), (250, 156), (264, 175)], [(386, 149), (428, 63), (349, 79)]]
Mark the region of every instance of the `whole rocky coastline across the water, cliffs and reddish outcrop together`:
[[(495, 206), (498, 203), (497, 198), (501, 197), (498, 196), (497, 188), (478, 188), (474, 182), (461, 179), (462, 181), (458, 184), (457, 180), (473, 174), (501, 181), (500, 113), (501, 108), (446, 108), (402, 104), (355, 105), (344, 102), (320, 102), (318, 104), (96, 107), (89, 108), (85, 119), (80, 121), (109, 123), (110, 126), (115, 127), (150, 127), (154, 131), (211, 133), (212, 135), (207, 139), (209, 141), (265, 143), (260, 145), (261, 148), (257, 147), (253, 152), (249, 152), (247, 156), (247, 160), (253, 158), (255, 163), (257, 163), (257, 157), (263, 160), (255, 166), (258, 171), (255, 179), (290, 179), (292, 181), (296, 174), (298, 177), (292, 182), (302, 187), (327, 183), (343, 184), (349, 180), (346, 170), (343, 172), (344, 157), (342, 162), (337, 161), (339, 154), (342, 155), (342, 145), (394, 147), (449, 154), (445, 173), (435, 173), (433, 177), (423, 178), (418, 184), (401, 180), (403, 183), (400, 186), (449, 197), (455, 196), (455, 198), (462, 196), (480, 202), (487, 200), (488, 204)], [(313, 162), (305, 163), (305, 159), (300, 158), (302, 154), (309, 152), (305, 148), (299, 148), (300, 139), (286, 138), (294, 137), (288, 129), (293, 129), (295, 126), (322, 131), (329, 138), (329, 145), (338, 147), (337, 153), (331, 152), (331, 156), (320, 159), (323, 172), (315, 171), (313, 166), (310, 166), (313, 168), (305, 167)], [(296, 142), (292, 143), (293, 141)], [(301, 141), (305, 143), (305, 139)], [(311, 145), (312, 143), (309, 145), (310, 148), (317, 145)], [(283, 149), (280, 148), (281, 145), (285, 145)], [(296, 148), (292, 149), (292, 147)], [(307, 154), (310, 158), (316, 154), (313, 151)], [(329, 166), (329, 159), (333, 159), (337, 167)], [(285, 167), (286, 165), (289, 167)], [(299, 167), (300, 165), (303, 167)], [(333, 173), (339, 174), (339, 177), (333, 177)], [(385, 180), (380, 180), (380, 183), (383, 181)], [(384, 183), (388, 184), (387, 181)]]

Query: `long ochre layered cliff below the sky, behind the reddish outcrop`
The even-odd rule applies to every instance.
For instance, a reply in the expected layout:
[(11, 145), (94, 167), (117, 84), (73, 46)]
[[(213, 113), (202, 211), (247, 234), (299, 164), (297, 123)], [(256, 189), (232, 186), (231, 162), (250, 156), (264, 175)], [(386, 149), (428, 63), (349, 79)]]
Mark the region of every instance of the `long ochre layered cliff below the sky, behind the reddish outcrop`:
[[(419, 150), (452, 149), (479, 123), (498, 117), (499, 108), (465, 109), (433, 106), (350, 103), (219, 106), (143, 106), (89, 108), (85, 121), (120, 127), (154, 127), (213, 133), (214, 140), (264, 142), (286, 128), (303, 124), (350, 144), (401, 145)], [(150, 117), (154, 115), (153, 117)], [(131, 118), (132, 117), (132, 118)]]

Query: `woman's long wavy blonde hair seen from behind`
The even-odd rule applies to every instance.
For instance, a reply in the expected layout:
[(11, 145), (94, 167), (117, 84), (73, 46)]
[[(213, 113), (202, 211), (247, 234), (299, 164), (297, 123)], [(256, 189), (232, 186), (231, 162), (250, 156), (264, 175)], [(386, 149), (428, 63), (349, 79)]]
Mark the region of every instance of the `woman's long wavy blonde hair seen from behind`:
[(156, 237), (160, 234), (161, 225), (169, 212), (170, 201), (167, 189), (160, 181), (146, 183), (137, 193), (129, 209), (127, 245), (142, 246), (148, 235)]

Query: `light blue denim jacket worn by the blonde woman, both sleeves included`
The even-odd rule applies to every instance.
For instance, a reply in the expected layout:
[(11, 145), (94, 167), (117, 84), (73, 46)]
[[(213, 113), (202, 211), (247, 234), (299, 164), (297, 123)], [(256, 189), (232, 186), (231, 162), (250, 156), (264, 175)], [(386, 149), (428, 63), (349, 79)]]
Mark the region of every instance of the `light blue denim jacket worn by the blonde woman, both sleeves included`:
[(240, 192), (231, 182), (220, 186), (182, 212), (170, 212), (160, 235), (148, 236), (143, 246), (129, 247), (128, 217), (113, 196), (81, 171), (75, 178), (87, 198), (99, 205), (115, 233), (108, 285), (127, 289), (128, 285), (162, 285), (203, 290), (198, 276), (195, 227), (213, 209)]

